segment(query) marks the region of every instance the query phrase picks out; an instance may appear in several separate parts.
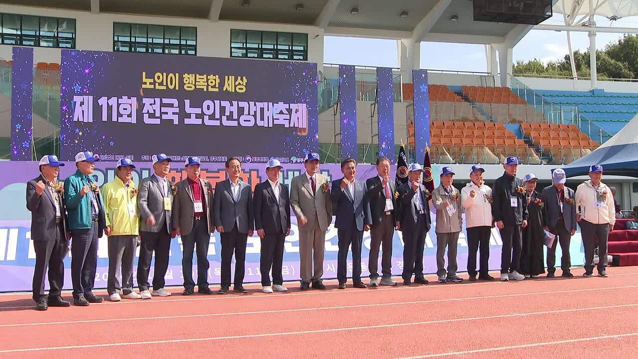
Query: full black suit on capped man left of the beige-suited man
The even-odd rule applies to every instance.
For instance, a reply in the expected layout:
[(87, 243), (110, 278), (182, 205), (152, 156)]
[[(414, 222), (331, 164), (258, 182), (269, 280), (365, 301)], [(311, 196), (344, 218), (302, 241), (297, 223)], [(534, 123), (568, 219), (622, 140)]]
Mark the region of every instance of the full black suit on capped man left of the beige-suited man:
[(269, 272), (272, 268), (272, 282), (283, 284), (281, 266), (286, 233), (290, 230), (290, 197), (288, 187), (279, 183), (279, 201), (269, 181), (255, 186), (253, 194), (255, 229), (263, 229), (260, 271), (262, 286), (271, 285)]

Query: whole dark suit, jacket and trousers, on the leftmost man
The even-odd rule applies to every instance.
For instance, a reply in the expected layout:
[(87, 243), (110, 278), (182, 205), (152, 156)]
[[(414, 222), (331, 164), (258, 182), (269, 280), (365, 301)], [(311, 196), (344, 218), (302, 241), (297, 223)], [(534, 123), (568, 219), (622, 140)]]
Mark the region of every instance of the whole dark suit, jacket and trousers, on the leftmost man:
[[(45, 189), (41, 195), (36, 192), (36, 183), (43, 181)], [(61, 216), (56, 216), (54, 197), (60, 208)], [(44, 302), (45, 273), (48, 268), (49, 296), (59, 296), (64, 285), (64, 257), (69, 246), (66, 238), (66, 208), (64, 195), (51, 193), (44, 176), (31, 179), (27, 183), (27, 209), (31, 211), (31, 240), (36, 252), (36, 266), (33, 271), (33, 300)], [(56, 223), (56, 219), (59, 222)]]

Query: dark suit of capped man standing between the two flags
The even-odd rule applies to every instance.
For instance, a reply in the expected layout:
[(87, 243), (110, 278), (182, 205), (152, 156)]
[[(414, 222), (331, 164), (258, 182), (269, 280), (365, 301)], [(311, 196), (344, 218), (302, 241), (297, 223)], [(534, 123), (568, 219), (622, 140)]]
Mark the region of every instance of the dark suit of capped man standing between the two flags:
[(423, 279), (423, 250), (426, 245), (427, 232), (432, 225), (430, 208), (427, 204), (426, 187), (420, 187), (420, 203), (422, 213), (417, 210), (412, 185), (406, 183), (400, 186), (399, 201), (401, 202), (401, 231), (403, 232), (403, 277), (404, 280)]

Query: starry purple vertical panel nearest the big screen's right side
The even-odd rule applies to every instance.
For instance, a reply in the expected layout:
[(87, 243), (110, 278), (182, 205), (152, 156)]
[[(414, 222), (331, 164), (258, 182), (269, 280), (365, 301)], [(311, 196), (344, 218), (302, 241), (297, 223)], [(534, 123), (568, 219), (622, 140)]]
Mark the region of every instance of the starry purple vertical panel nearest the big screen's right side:
[(339, 65), (341, 159), (357, 159), (357, 80), (355, 66)]

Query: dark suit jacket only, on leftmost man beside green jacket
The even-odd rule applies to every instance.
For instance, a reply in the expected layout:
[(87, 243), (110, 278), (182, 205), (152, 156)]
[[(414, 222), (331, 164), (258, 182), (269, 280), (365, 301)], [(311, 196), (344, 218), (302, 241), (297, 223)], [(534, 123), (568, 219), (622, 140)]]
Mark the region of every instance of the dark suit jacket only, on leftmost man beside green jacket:
[[(31, 239), (34, 241), (53, 240), (53, 233), (57, 229), (56, 224), (56, 205), (53, 196), (57, 195), (62, 215), (62, 223), (64, 225), (64, 233), (68, 231), (66, 227), (66, 208), (64, 208), (64, 195), (52, 194), (45, 186), (42, 195), (38, 196), (36, 192), (36, 183), (43, 181), (47, 184), (47, 179), (40, 175), (38, 178), (31, 179), (27, 182), (27, 210), (31, 211)], [(66, 240), (66, 238), (64, 238)]]

